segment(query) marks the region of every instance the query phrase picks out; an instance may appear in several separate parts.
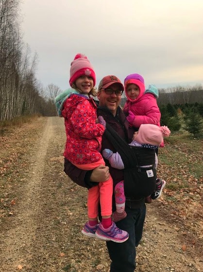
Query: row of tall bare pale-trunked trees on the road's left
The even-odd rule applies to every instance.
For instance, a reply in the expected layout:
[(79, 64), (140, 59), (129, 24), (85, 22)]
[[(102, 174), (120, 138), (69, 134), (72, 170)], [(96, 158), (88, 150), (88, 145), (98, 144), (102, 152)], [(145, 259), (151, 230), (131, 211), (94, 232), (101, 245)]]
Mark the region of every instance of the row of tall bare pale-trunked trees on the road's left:
[(36, 101), (43, 99), (35, 78), (37, 54), (31, 58), (22, 40), (19, 4), (0, 0), (0, 120), (36, 113)]

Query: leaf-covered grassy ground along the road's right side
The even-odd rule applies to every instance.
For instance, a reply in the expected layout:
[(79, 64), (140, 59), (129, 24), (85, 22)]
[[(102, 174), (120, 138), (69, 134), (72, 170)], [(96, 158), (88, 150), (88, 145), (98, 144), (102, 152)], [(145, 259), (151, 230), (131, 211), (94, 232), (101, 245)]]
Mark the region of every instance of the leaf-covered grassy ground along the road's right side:
[(158, 158), (158, 175), (167, 181), (158, 201), (160, 214), (174, 223), (187, 248), (195, 247), (202, 254), (203, 139), (186, 132), (172, 134), (159, 149)]

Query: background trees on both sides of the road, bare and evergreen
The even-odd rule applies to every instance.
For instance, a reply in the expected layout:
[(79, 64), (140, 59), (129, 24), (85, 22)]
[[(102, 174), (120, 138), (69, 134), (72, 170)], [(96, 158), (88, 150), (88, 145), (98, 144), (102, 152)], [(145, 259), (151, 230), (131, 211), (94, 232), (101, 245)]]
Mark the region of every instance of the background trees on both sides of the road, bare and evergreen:
[[(32, 115), (57, 116), (54, 97), (61, 89), (50, 83), (43, 87), (36, 78), (37, 52), (23, 41), (19, 0), (0, 0), (0, 132), (8, 121)], [(121, 99), (121, 107), (126, 97)], [(157, 103), (161, 123), (172, 131), (181, 127), (184, 117), (188, 132), (202, 131), (203, 86), (176, 86), (159, 89)], [(192, 118), (192, 119), (191, 119)], [(174, 122), (175, 121), (175, 122)], [(191, 128), (191, 124), (198, 128)], [(188, 126), (190, 128), (188, 128)]]

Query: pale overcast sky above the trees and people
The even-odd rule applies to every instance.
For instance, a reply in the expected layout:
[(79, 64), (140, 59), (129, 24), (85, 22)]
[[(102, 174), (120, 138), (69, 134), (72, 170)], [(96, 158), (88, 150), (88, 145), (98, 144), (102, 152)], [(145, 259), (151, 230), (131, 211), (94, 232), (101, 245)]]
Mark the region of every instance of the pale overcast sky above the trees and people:
[(23, 0), (23, 40), (46, 87), (69, 88), (85, 54), (99, 81), (141, 74), (158, 88), (203, 84), (203, 0)]

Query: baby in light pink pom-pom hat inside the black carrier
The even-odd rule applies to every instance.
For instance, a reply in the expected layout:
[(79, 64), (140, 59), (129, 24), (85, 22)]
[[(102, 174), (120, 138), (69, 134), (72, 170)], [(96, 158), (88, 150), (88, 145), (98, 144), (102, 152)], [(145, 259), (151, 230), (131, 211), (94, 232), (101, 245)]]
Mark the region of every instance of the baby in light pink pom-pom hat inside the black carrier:
[[(152, 124), (141, 124), (139, 130), (134, 133), (133, 141), (129, 144), (134, 147), (143, 147), (156, 150), (160, 144), (163, 142), (164, 136), (169, 136), (170, 130), (167, 126), (156, 126)], [(124, 169), (124, 164), (121, 156), (118, 152), (113, 153), (110, 149), (104, 149), (102, 151), (104, 158), (108, 159), (111, 166), (117, 169)], [(155, 153), (155, 164), (156, 169), (158, 164), (158, 158)], [(149, 168), (152, 165), (141, 165), (140, 168)], [(158, 199), (162, 190), (165, 187), (166, 182), (163, 180), (163, 186), (161, 188), (155, 189), (155, 199)], [(157, 184), (156, 184), (157, 187)], [(123, 218), (125, 213), (125, 194), (124, 194), (124, 181), (120, 181), (115, 187), (115, 199), (116, 199), (116, 212), (114, 212), (114, 221), (117, 222)]]

